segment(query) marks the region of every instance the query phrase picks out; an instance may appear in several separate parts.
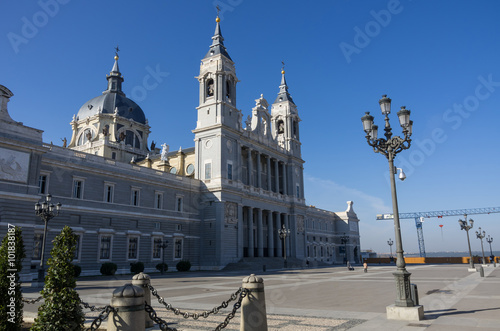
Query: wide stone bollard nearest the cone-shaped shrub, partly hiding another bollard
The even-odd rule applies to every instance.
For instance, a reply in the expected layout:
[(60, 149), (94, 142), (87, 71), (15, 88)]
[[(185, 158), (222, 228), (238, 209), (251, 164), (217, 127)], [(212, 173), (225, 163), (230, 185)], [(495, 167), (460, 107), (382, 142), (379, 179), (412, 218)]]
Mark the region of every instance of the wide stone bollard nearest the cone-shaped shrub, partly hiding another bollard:
[(113, 292), (111, 306), (118, 311), (108, 317), (108, 331), (144, 331), (144, 290), (125, 284)]

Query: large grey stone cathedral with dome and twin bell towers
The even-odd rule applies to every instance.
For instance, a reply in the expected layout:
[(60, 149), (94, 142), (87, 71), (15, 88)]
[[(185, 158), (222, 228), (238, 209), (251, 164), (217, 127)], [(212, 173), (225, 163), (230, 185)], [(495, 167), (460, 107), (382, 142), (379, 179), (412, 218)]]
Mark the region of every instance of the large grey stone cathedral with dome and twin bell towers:
[[(285, 254), (304, 264), (359, 261), (352, 202), (342, 212), (305, 204), (301, 120), (285, 72), (273, 103), (261, 96), (242, 121), (239, 79), (218, 21), (196, 77), (191, 148), (148, 144), (154, 128), (122, 91), (118, 55), (103, 73), (106, 90), (68, 114), (72, 137), (62, 146), (44, 143), (42, 130), (13, 120), (22, 109), (13, 98), (9, 114), (13, 93), (0, 85), (0, 236), (8, 224), (23, 229), (22, 281), (37, 277), (44, 222), (34, 206), (49, 193), (62, 209), (48, 223), (45, 259), (68, 225), (78, 236), (74, 263), (82, 275), (100, 274), (105, 262), (128, 273), (137, 261), (146, 272), (163, 260), (169, 270), (180, 260), (193, 270), (218, 270), (242, 260), (281, 261)], [(284, 239), (283, 228), (289, 230)]]

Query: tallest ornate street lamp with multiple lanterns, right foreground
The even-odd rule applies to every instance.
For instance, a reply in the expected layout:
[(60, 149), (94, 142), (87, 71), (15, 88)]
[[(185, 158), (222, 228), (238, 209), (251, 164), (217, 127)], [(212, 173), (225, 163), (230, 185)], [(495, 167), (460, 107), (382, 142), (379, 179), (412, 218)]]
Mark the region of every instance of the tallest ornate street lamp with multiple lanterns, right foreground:
[(373, 147), (375, 153), (380, 153), (384, 155), (389, 161), (389, 176), (391, 181), (391, 193), (392, 193), (392, 209), (394, 215), (394, 232), (396, 238), (396, 257), (397, 257), (397, 270), (393, 273), (396, 279), (396, 289), (397, 298), (396, 306), (399, 307), (413, 307), (415, 304), (410, 297), (410, 275), (406, 270), (406, 263), (403, 257), (403, 242), (401, 239), (401, 228), (399, 224), (399, 210), (398, 210), (398, 200), (396, 194), (396, 180), (394, 174), (396, 173), (396, 168), (394, 167), (394, 158), (399, 152), (410, 148), (411, 144), (411, 134), (413, 128), (413, 121), (410, 121), (410, 110), (405, 107), (401, 107), (397, 115), (399, 118), (399, 124), (403, 129), (404, 138), (399, 136), (392, 136), (392, 128), (389, 124), (389, 114), (391, 112), (391, 99), (387, 95), (383, 95), (382, 99), (379, 100), (380, 110), (385, 116), (385, 128), (384, 136), (385, 138), (378, 138), (378, 126), (373, 125), (373, 116), (369, 112), (361, 118), (363, 122), (363, 130), (366, 133), (366, 141), (368, 145)]

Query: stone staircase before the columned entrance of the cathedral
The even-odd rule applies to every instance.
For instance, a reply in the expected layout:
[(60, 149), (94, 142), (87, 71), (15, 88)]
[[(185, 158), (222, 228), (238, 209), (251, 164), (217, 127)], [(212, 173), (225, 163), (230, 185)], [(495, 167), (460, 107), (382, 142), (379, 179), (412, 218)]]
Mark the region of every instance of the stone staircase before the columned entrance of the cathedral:
[[(284, 261), (281, 257), (246, 257), (236, 263), (229, 263), (224, 271), (250, 271), (250, 273), (260, 274), (264, 270), (284, 269)], [(305, 261), (297, 258), (287, 258), (287, 269), (305, 267)]]

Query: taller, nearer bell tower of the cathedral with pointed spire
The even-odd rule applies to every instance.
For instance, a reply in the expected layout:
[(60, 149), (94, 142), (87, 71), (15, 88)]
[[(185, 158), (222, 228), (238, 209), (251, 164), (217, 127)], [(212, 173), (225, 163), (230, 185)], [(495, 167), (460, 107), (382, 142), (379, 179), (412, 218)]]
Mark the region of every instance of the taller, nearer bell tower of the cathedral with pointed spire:
[(236, 70), (224, 46), (220, 19), (216, 18), (212, 44), (201, 60), (200, 100), (195, 134), (195, 178), (212, 190), (232, 178), (237, 161), (237, 141), (241, 134), (241, 111), (236, 108)]

